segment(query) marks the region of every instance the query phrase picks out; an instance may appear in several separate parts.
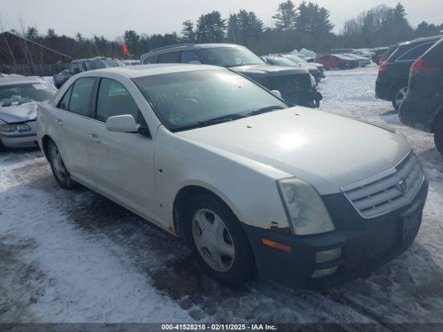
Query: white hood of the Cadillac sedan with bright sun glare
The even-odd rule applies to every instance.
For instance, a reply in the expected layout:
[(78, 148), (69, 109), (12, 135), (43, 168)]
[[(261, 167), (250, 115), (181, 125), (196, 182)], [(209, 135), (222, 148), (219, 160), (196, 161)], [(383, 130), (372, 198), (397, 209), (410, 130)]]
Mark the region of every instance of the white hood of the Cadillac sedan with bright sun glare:
[(410, 151), (397, 133), (304, 107), (177, 134), (302, 178), (320, 194), (379, 174)]

